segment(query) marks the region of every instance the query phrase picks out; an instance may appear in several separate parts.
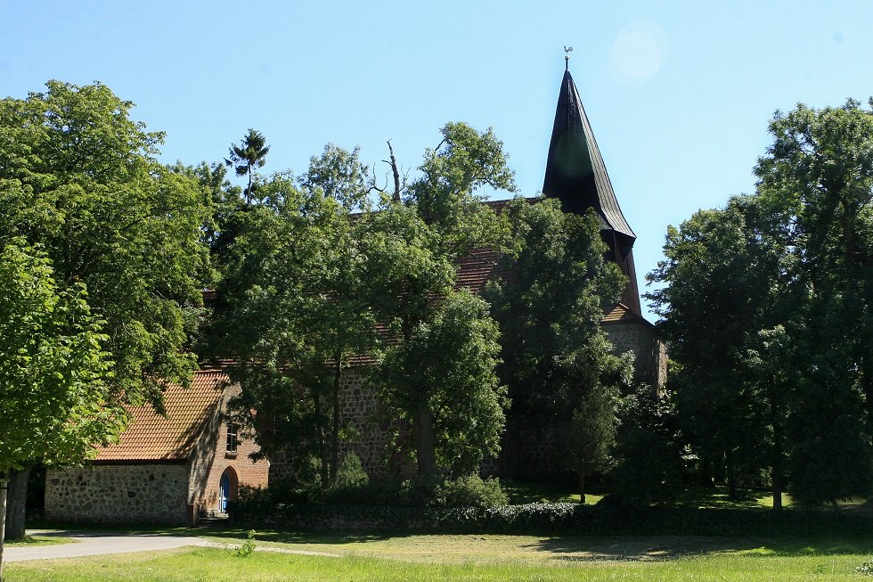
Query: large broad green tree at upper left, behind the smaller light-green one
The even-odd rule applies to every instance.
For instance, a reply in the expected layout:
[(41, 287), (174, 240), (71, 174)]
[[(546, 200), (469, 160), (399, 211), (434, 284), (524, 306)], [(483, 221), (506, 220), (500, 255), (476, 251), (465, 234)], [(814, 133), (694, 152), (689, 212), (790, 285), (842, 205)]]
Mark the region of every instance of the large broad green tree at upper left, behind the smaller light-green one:
[(61, 288), (86, 285), (113, 404), (159, 408), (162, 381), (186, 384), (195, 365), (208, 194), (159, 164), (163, 135), (129, 118), (133, 103), (99, 83), (46, 86), (0, 102), (0, 244), (41, 245)]

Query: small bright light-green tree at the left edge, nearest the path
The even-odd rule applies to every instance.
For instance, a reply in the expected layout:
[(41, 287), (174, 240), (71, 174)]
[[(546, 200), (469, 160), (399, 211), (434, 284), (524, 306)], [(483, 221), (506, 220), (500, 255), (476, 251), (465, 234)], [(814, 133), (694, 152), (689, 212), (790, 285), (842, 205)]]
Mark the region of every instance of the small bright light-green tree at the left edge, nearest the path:
[[(0, 480), (35, 461), (79, 463), (126, 421), (113, 404), (102, 322), (85, 286), (59, 285), (45, 253), (23, 239), (0, 250)], [(26, 474), (26, 473), (25, 473)], [(0, 569), (6, 521), (0, 492)], [(12, 521), (18, 520), (12, 515)], [(10, 524), (12, 533), (23, 523)]]

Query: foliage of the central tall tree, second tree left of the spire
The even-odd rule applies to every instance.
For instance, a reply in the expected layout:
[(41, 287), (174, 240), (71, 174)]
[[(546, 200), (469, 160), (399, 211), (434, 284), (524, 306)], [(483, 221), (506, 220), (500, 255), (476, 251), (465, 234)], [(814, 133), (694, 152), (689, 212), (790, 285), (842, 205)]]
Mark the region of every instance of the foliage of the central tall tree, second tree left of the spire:
[(379, 366), (382, 395), (412, 424), (420, 475), (469, 472), (495, 451), (502, 389), (496, 328), (485, 304), (454, 291), (455, 261), (499, 242), (501, 222), (481, 204), (485, 185), (512, 189), (502, 143), (488, 130), (443, 127), (404, 201), (384, 198), (359, 221), (367, 287), (391, 342)]

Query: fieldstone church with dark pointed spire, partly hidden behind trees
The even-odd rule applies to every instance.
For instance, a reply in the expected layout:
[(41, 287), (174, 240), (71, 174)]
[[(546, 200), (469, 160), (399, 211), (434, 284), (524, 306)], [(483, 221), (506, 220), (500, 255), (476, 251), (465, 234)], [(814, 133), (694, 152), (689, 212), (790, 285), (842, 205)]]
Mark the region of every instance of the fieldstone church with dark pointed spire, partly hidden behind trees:
[[(633, 265), (636, 235), (624, 218), (606, 166), (594, 139), (579, 92), (569, 70), (564, 73), (546, 162), (543, 194), (557, 198), (566, 212), (594, 209), (608, 259), (627, 276), (621, 299), (604, 314), (602, 325), (616, 353), (633, 352), (635, 381), (662, 389), (666, 351), (654, 325), (642, 316)], [(494, 206), (499, 207), (500, 202)], [(479, 292), (500, 276), (496, 250), (480, 249), (458, 264), (458, 284)], [(365, 365), (365, 364), (363, 364)], [(341, 382), (342, 413), (353, 441), (342, 454), (354, 452), (371, 477), (412, 474), (403, 460), (386, 460), (392, 434), (385, 406), (364, 385), (361, 370), (345, 371)], [(143, 407), (131, 411), (133, 421), (117, 445), (103, 448), (89, 466), (49, 471), (46, 517), (61, 521), (159, 521), (193, 523), (199, 515), (224, 513), (228, 499), (241, 486), (263, 487), (288, 479), (291, 463), (281, 455), (252, 461), (252, 439), (241, 439), (239, 427), (224, 415), (227, 399), (240, 390), (220, 370), (195, 374), (191, 389), (168, 386), (166, 415)], [(501, 458), (484, 472), (514, 479), (543, 479), (551, 463), (551, 427), (531, 419), (510, 422)]]

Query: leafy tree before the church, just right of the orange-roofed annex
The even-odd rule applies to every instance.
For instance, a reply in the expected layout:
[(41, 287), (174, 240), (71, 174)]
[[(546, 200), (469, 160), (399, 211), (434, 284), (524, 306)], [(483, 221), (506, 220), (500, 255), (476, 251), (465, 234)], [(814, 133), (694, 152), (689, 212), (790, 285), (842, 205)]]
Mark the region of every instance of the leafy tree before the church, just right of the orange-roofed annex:
[[(230, 249), (214, 326), (216, 352), (233, 358), (230, 373), (243, 388), (238, 418), (258, 427), (267, 455), (318, 459), (324, 486), (339, 469), (341, 380), (375, 333), (350, 208), (322, 187), (336, 184), (328, 177), (304, 176), (302, 190), (289, 174), (261, 184), (264, 202), (249, 210)], [(266, 411), (278, 416), (280, 430), (261, 430), (257, 415)]]

